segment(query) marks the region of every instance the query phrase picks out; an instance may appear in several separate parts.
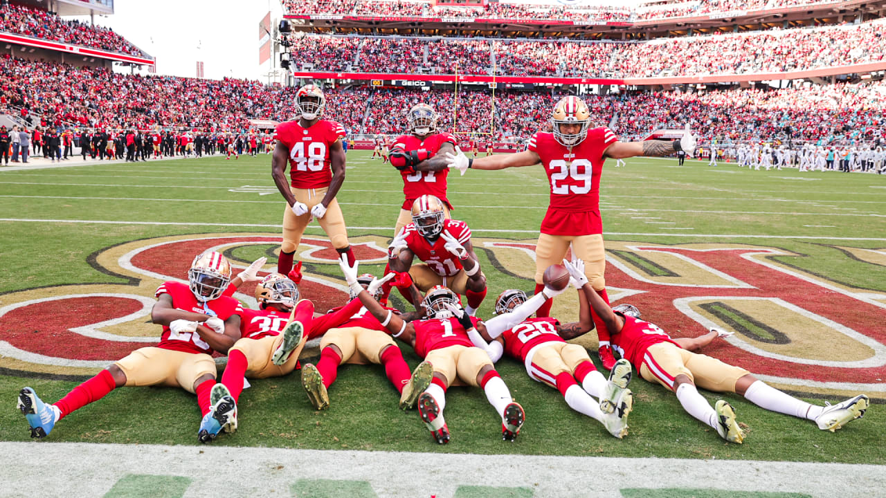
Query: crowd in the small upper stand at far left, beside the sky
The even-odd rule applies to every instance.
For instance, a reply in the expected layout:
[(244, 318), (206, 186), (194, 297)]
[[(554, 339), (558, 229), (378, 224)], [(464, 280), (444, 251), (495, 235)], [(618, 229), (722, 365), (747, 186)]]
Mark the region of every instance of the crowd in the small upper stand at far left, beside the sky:
[(111, 28), (64, 20), (23, 5), (0, 4), (0, 31), (144, 57), (142, 51)]

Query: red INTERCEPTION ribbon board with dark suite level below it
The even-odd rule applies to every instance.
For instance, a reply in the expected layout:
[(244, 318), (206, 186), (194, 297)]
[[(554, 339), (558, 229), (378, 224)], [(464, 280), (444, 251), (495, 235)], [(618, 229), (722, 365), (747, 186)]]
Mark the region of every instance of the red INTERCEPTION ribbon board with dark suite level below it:
[(649, 39), (661, 36), (750, 31), (769, 27), (837, 24), (886, 15), (886, 0), (848, 0), (754, 11), (636, 21), (487, 19), (286, 12), (292, 28), (318, 34), (455, 35), (527, 38)]

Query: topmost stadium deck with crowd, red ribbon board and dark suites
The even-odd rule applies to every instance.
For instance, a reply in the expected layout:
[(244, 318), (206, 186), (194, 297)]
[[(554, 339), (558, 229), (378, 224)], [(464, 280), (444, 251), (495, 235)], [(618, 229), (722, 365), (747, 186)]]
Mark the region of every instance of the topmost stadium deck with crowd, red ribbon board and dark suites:
[(839, 24), (880, 18), (886, 0), (690, 0), (622, 7), (403, 0), (284, 0), (285, 17), (314, 33), (649, 39)]

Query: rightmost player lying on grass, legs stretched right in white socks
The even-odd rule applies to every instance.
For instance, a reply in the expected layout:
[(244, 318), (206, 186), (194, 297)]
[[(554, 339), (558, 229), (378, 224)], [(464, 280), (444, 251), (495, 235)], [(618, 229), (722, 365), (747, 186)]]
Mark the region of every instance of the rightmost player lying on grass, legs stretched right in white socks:
[[(563, 261), (573, 277), (578, 277), (580, 263)], [(717, 337), (731, 332), (713, 330), (698, 338), (671, 338), (657, 325), (640, 320), (640, 310), (628, 304), (610, 308), (596, 292), (585, 292), (592, 309), (606, 323), (612, 347), (622, 358), (633, 363), (645, 380), (664, 385), (677, 394), (689, 415), (714, 428), (724, 440), (741, 443), (744, 434), (735, 421), (735, 411), (727, 401), (717, 401), (714, 408), (696, 390), (696, 385), (716, 393), (738, 393), (762, 409), (814, 420), (822, 431), (831, 431), (865, 415), (867, 396), (824, 407), (797, 400), (766, 385), (748, 370), (694, 351)], [(564, 331), (563, 338), (578, 337), (579, 331)]]

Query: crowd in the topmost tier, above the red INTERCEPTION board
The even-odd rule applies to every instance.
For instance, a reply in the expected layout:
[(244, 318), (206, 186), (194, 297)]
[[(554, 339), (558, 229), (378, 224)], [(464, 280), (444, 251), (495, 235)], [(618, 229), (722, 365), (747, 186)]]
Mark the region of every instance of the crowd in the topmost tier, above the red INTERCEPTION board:
[(713, 12), (759, 11), (808, 4), (835, 4), (842, 0), (690, 0), (632, 10), (609, 5), (502, 4), (431, 5), (415, 0), (378, 2), (370, 0), (286, 0), (286, 12), (292, 14), (339, 14), (356, 16), (458, 17), (481, 19), (563, 19), (579, 21), (625, 22), (646, 19), (702, 16)]

